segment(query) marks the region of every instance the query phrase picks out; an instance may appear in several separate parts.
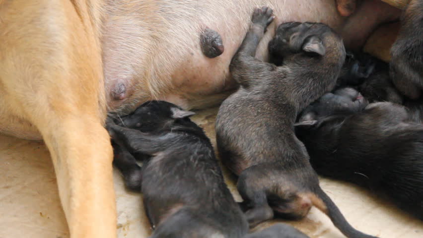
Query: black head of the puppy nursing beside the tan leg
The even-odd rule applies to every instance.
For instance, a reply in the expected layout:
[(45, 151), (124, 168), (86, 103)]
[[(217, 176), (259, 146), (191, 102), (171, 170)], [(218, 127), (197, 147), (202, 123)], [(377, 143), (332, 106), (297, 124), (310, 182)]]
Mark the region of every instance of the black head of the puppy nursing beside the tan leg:
[(165, 101), (149, 101), (143, 103), (133, 113), (117, 124), (128, 128), (139, 129), (142, 132), (169, 129), (175, 123), (189, 120), (195, 113), (184, 111), (180, 107)]

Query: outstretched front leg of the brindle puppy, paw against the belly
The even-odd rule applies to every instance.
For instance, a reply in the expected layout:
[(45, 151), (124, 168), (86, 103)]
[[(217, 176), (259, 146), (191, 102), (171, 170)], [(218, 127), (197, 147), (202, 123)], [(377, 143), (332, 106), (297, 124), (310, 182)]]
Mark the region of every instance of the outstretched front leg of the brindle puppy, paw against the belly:
[[(273, 21), (273, 10), (269, 7), (254, 9), (252, 23), (237, 53), (232, 58), (229, 71), (232, 77), (242, 86), (248, 87), (260, 72), (264, 74), (274, 69), (274, 65), (255, 59), (257, 46), (263, 38), (264, 31)], [(254, 71), (254, 75), (251, 72)]]

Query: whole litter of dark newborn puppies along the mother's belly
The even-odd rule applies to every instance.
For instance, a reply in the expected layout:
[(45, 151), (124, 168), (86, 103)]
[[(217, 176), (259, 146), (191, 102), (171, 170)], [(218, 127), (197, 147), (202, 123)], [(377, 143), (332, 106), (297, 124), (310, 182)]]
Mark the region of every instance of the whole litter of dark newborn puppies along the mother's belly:
[[(413, 9), (404, 10), (404, 24)], [(404, 31), (388, 65), (346, 53), (325, 24), (287, 22), (269, 43), (271, 61), (256, 60), (273, 18), (269, 7), (254, 10), (229, 65), (239, 88), (216, 119), (216, 149), (238, 176), (240, 204), (209, 138), (189, 119), (194, 113), (150, 101), (108, 119), (114, 165), (128, 188), (143, 193), (151, 238), (306, 238), (288, 225), (248, 229), (275, 216), (301, 219), (311, 206), (346, 237), (373, 237), (346, 221), (317, 174), (369, 187), (423, 220), (422, 43), (410, 46)]]

